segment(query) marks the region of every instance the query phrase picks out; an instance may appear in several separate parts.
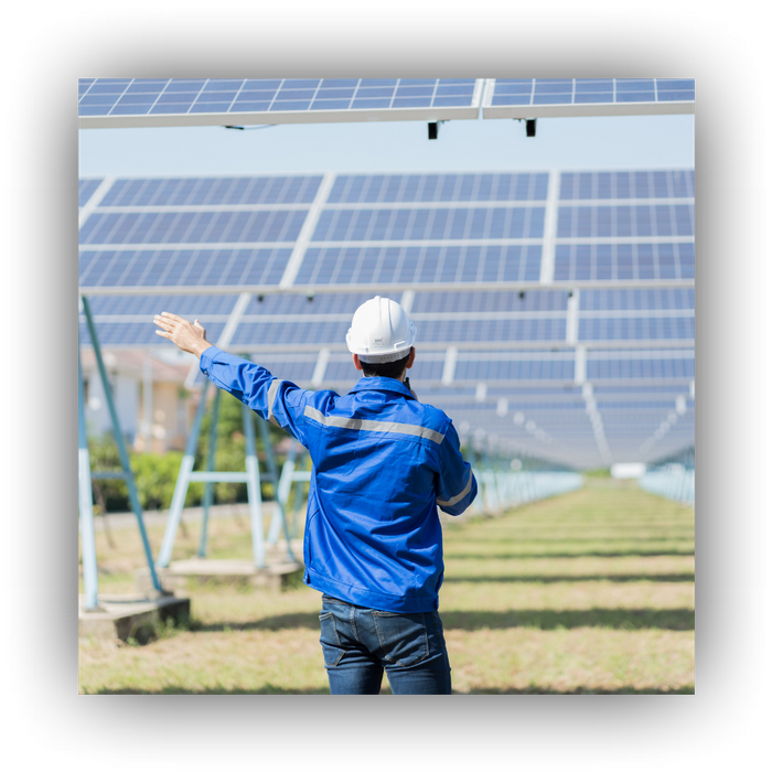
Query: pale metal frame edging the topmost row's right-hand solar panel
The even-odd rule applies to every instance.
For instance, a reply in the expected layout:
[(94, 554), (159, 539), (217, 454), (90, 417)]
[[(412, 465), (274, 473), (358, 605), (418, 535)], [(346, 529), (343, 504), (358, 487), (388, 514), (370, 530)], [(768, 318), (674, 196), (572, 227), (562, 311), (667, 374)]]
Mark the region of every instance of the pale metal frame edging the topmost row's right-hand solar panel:
[(695, 101), (623, 101), (582, 103), (555, 105), (501, 105), (491, 104), (496, 78), (486, 78), (483, 95), (483, 119), (498, 118), (570, 118), (644, 115), (693, 115)]

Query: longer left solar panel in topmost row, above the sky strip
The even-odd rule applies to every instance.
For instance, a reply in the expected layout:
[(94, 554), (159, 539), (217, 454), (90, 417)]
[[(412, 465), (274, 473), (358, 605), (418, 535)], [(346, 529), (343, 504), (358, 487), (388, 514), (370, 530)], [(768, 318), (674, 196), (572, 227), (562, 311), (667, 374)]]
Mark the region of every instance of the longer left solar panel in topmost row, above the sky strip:
[(78, 128), (476, 118), (482, 78), (78, 78)]

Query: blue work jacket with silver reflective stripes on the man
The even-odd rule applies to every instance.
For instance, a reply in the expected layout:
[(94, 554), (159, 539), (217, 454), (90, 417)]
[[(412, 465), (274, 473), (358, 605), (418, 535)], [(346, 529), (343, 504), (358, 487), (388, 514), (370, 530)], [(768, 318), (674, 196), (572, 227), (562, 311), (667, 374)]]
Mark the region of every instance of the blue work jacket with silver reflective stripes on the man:
[(395, 378), (361, 378), (345, 396), (310, 392), (216, 346), (201, 372), (309, 450), (303, 581), (383, 611), (437, 609), (437, 507), (460, 515), (478, 493), (450, 418)]

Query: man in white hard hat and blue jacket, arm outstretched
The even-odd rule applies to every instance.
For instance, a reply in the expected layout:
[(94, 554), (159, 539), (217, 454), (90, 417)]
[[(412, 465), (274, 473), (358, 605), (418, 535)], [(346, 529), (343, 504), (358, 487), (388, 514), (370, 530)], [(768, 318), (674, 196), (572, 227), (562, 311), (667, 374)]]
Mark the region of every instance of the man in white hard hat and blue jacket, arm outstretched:
[(406, 384), (416, 328), (399, 303), (376, 297), (346, 335), (354, 389), (309, 392), (226, 354), (193, 324), (156, 317), (159, 335), (201, 360), (201, 372), (309, 449), (303, 581), (322, 596), (320, 642), (332, 694), (450, 694), (439, 618), (442, 529), (437, 506), (460, 515), (478, 484), (442, 410)]

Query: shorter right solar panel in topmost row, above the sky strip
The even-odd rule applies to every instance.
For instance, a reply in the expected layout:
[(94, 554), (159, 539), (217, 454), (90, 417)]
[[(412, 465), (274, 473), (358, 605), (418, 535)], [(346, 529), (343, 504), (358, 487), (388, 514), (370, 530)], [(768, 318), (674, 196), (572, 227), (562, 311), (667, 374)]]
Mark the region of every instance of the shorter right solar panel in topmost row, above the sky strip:
[(483, 101), (483, 118), (694, 111), (694, 78), (491, 78)]

